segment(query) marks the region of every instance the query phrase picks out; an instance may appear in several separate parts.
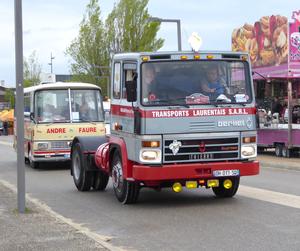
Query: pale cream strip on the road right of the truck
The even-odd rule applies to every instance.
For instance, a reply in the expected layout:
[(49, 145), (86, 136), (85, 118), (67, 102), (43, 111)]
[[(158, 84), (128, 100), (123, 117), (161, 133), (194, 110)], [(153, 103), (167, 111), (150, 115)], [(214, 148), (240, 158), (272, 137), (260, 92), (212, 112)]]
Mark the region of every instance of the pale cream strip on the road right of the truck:
[(240, 185), (238, 195), (300, 209), (300, 196)]

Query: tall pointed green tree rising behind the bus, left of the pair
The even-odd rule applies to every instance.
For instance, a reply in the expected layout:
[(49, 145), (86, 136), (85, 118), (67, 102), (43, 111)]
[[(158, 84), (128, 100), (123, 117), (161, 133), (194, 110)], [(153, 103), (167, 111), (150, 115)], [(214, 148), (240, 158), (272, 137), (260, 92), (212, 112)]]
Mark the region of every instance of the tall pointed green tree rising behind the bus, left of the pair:
[(94, 83), (106, 90), (103, 79), (108, 75), (109, 54), (100, 14), (98, 0), (91, 0), (80, 24), (79, 35), (66, 54), (74, 61), (71, 64), (72, 80)]

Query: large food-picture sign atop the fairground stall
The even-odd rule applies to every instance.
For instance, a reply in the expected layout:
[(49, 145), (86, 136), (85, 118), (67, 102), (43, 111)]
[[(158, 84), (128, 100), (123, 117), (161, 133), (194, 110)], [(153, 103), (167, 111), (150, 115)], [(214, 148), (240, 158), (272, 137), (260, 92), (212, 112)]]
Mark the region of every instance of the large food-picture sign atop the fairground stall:
[(249, 53), (252, 66), (277, 67), (288, 61), (288, 19), (280, 15), (264, 16), (254, 24), (232, 32), (232, 50)]

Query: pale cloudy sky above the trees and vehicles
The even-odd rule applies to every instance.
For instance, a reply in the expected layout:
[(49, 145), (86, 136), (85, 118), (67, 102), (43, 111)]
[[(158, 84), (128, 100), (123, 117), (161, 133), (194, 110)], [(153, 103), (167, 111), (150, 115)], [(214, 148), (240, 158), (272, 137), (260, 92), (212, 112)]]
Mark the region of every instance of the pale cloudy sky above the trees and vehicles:
[[(117, 0), (99, 0), (103, 20)], [(118, 1), (117, 1), (118, 2)], [(69, 74), (71, 58), (66, 48), (77, 37), (89, 0), (23, 0), (23, 55), (36, 51), (42, 72)], [(180, 19), (182, 49), (190, 50), (188, 38), (197, 32), (203, 40), (200, 50), (230, 50), (231, 33), (244, 23), (253, 24), (262, 16), (279, 14), (291, 21), (300, 10), (299, 0), (149, 0), (153, 17)], [(165, 40), (160, 50), (177, 50), (175, 23), (162, 23), (158, 37)], [(0, 81), (15, 86), (14, 0), (0, 0)]]

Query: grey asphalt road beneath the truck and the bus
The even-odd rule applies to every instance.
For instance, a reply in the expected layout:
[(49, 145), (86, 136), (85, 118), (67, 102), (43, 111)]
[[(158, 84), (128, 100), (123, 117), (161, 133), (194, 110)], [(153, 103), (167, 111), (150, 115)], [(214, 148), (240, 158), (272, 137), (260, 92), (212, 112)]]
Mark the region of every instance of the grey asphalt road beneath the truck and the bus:
[[(0, 179), (16, 184), (16, 154), (0, 144)], [(135, 205), (78, 192), (67, 165), (26, 166), (26, 191), (55, 212), (126, 250), (299, 250), (300, 172), (264, 168), (243, 177), (232, 199), (197, 189), (141, 190)]]

